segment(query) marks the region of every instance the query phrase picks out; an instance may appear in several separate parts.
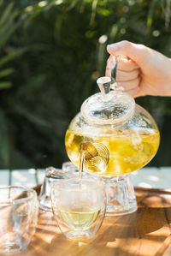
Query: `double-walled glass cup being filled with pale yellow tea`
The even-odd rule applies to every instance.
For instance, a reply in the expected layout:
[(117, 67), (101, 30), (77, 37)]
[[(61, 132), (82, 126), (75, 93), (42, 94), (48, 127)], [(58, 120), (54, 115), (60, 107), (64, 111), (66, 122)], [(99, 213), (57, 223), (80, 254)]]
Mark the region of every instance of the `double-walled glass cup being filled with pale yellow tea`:
[(62, 233), (82, 241), (97, 234), (105, 215), (104, 183), (91, 178), (74, 178), (52, 186), (52, 209)]

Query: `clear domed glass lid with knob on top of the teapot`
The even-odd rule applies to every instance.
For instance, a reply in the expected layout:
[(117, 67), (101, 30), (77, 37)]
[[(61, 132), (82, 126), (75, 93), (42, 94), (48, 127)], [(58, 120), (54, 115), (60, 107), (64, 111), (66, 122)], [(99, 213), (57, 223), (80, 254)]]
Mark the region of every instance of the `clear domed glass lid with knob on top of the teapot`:
[(81, 114), (86, 122), (114, 124), (124, 122), (133, 115), (133, 97), (117, 88), (110, 91), (111, 79), (108, 76), (98, 78), (97, 84), (101, 92), (87, 98), (81, 106)]

